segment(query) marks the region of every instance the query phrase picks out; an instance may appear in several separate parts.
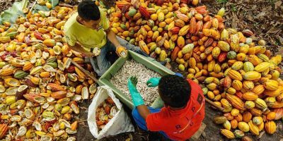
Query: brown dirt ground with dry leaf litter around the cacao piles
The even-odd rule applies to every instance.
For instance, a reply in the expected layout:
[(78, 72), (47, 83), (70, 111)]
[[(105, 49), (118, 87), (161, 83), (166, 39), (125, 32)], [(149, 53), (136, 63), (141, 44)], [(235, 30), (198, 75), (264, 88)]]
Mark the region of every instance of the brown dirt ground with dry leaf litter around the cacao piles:
[[(0, 12), (11, 6), (15, 0), (0, 1)], [(16, 0), (17, 1), (17, 0)], [(224, 7), (226, 9), (226, 15), (224, 16), (226, 27), (233, 27), (238, 30), (249, 29), (252, 30), (255, 35), (253, 39), (265, 39), (267, 41), (267, 47), (272, 50), (274, 54), (283, 54), (283, 4), (282, 0), (202, 0), (200, 5), (206, 5), (211, 14), (216, 14), (217, 11)], [(173, 64), (174, 66), (174, 64)], [(175, 68), (175, 67), (173, 67)], [(176, 71), (173, 69), (173, 71)], [(76, 134), (77, 140), (96, 140), (88, 130), (87, 111), (88, 105), (91, 104), (91, 100), (80, 103), (81, 114), (79, 117), (79, 129)], [(127, 109), (127, 108), (126, 108)], [(227, 140), (220, 134), (221, 125), (215, 125), (212, 122), (212, 118), (216, 115), (221, 115), (221, 112), (212, 109), (209, 104), (206, 105), (206, 116), (204, 123), (207, 128), (200, 137), (200, 141), (210, 140)], [(130, 110), (127, 109), (130, 114)], [(129, 115), (130, 116), (130, 115)], [(277, 132), (270, 136), (266, 133), (255, 137), (254, 140), (283, 140), (283, 128), (282, 121), (277, 122)], [(137, 129), (134, 133), (123, 133), (115, 135), (113, 137), (105, 137), (103, 141), (112, 140), (158, 140), (160, 136), (156, 133), (147, 133)]]

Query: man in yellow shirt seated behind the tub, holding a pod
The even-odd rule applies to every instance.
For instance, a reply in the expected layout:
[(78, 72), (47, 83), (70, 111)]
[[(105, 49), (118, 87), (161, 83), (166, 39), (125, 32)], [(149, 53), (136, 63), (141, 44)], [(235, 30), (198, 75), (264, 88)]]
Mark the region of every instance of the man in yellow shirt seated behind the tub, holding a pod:
[[(64, 34), (64, 39), (71, 49), (81, 52), (90, 59), (98, 76), (103, 75), (111, 65), (106, 59), (106, 54), (110, 51), (116, 51), (118, 56), (124, 56), (127, 55), (127, 49), (130, 49), (145, 55), (139, 47), (116, 37), (110, 30), (106, 14), (94, 1), (86, 0), (79, 4), (78, 13), (74, 13), (64, 25)], [(95, 54), (99, 50), (100, 54)]]

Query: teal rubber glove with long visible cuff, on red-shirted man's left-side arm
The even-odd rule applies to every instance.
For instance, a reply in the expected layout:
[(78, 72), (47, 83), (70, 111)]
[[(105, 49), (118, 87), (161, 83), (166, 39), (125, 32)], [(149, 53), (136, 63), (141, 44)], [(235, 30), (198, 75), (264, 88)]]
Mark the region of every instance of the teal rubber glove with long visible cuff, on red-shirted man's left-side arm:
[(128, 79), (128, 89), (132, 96), (134, 106), (144, 105), (144, 99), (142, 99), (141, 94), (137, 92), (137, 77), (131, 76)]

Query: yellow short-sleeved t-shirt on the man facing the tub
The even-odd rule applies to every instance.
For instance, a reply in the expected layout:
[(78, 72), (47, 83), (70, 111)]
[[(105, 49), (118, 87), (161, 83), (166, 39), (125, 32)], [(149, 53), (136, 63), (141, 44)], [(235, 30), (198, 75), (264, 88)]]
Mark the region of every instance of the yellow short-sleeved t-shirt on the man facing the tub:
[(79, 42), (86, 51), (91, 51), (91, 48), (95, 47), (103, 47), (107, 42), (105, 30), (107, 30), (110, 26), (109, 20), (106, 18), (106, 14), (100, 10), (101, 20), (99, 26), (102, 28), (98, 31), (81, 25), (81, 23), (76, 20), (78, 15), (78, 13), (74, 13), (65, 23), (65, 41), (71, 46), (74, 46), (76, 42)]

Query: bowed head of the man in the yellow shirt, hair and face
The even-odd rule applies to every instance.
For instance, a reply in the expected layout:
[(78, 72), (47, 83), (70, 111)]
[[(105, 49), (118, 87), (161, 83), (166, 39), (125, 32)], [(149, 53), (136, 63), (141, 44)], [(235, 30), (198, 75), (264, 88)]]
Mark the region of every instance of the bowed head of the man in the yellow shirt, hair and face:
[(80, 22), (93, 30), (97, 30), (100, 23), (100, 11), (94, 1), (85, 0), (78, 6)]

